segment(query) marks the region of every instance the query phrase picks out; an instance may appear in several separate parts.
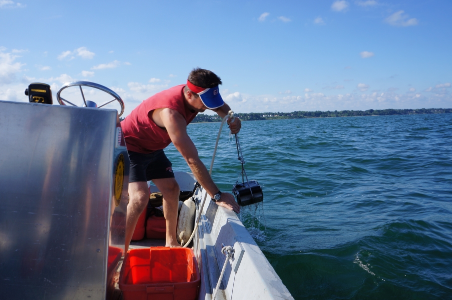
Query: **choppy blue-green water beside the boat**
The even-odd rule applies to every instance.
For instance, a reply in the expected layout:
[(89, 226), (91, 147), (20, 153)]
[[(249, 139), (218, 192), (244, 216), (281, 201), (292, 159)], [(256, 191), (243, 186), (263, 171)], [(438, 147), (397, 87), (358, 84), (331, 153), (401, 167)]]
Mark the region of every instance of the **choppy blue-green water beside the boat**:
[[(218, 128), (188, 126), (207, 166)], [(240, 164), (222, 136), (226, 191)], [(260, 208), (243, 222), (295, 299), (452, 298), (452, 114), (248, 121), (240, 136), (267, 230)]]

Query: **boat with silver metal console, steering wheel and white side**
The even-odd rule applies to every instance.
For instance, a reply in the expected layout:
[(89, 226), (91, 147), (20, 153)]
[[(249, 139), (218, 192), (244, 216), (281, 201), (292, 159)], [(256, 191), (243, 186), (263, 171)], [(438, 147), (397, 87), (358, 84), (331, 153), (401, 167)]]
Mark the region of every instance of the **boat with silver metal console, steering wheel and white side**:
[[(80, 87), (86, 107), (46, 104), (33, 94), (36, 102), (0, 100), (0, 289), (6, 299), (123, 298), (118, 281), (130, 161), (117, 110), (96, 107), (82, 86), (112, 95), (120, 113), (124, 103), (105, 86), (75, 81), (58, 91), (60, 104), (70, 86)], [(193, 174), (175, 177), (196, 204), (190, 246), (201, 278), (197, 298), (293, 299), (237, 214), (195, 188)], [(164, 242), (143, 239), (130, 249)]]

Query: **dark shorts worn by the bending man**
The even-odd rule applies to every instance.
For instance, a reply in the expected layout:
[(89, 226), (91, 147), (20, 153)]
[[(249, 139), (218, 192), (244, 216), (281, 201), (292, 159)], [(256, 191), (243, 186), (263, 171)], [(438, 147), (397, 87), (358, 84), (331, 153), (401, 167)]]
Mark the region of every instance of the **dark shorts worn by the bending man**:
[(152, 153), (128, 151), (130, 158), (129, 182), (174, 178), (171, 161), (163, 150)]

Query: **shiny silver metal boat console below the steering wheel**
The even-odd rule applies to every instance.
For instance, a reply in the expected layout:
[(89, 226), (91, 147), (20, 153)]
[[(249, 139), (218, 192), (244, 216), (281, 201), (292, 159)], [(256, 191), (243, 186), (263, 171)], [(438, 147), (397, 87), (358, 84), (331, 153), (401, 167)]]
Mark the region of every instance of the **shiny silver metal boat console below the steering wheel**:
[(116, 110), (0, 101), (2, 297), (105, 299), (111, 291), (129, 175), (117, 125)]

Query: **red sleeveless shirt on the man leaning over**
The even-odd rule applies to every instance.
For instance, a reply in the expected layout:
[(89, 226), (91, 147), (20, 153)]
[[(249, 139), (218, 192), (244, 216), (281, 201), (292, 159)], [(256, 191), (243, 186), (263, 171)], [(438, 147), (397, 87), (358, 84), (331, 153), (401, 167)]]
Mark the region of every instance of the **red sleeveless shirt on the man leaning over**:
[(185, 104), (184, 86), (185, 84), (176, 85), (147, 98), (121, 122), (128, 150), (150, 153), (171, 143), (168, 132), (149, 117), (154, 109), (177, 110), (184, 116), (187, 125), (195, 118), (198, 112), (190, 110)]

